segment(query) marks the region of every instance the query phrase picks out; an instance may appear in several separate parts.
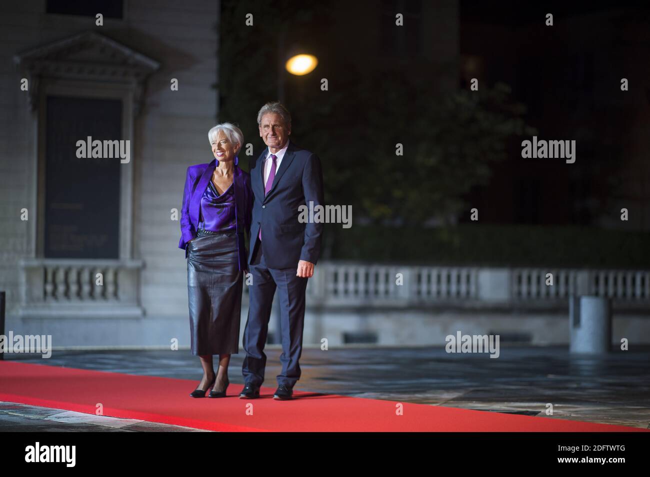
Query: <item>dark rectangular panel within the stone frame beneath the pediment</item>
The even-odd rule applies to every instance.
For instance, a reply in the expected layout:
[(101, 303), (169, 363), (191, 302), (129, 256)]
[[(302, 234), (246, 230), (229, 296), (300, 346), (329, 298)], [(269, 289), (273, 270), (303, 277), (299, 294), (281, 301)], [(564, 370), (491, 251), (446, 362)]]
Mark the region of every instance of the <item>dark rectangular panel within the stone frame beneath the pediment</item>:
[(77, 158), (77, 141), (122, 139), (122, 101), (47, 98), (45, 258), (118, 258), (120, 158)]

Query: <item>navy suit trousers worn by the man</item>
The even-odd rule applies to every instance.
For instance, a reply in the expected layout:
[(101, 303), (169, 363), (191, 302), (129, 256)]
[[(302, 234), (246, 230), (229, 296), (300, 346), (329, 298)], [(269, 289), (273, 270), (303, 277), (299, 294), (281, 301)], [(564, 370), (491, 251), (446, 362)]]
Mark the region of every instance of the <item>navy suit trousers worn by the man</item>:
[(248, 319), (244, 328), (243, 346), (246, 357), (242, 374), (246, 384), (261, 386), (264, 382), (266, 354), (264, 345), (268, 334), (268, 320), (271, 315), (273, 297), (278, 290), (280, 307), (280, 334), (282, 371), (276, 377), (278, 385), (291, 389), (300, 379), (300, 355), (302, 354), (302, 332), (305, 322), (305, 289), (307, 280), (296, 276), (296, 267), (272, 269), (266, 267), (261, 241), (255, 241), (253, 261), (250, 264), (252, 284), (249, 286), (250, 304)]

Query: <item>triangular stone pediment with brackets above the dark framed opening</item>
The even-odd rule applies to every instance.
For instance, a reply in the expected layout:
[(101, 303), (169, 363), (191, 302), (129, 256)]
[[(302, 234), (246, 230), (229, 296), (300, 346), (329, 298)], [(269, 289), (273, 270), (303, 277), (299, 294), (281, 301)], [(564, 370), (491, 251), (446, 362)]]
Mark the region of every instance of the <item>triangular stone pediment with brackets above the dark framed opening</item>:
[(120, 82), (132, 86), (135, 114), (142, 108), (146, 78), (159, 62), (94, 31), (23, 51), (14, 62), (29, 80), (29, 104), (38, 107), (38, 88), (47, 79)]

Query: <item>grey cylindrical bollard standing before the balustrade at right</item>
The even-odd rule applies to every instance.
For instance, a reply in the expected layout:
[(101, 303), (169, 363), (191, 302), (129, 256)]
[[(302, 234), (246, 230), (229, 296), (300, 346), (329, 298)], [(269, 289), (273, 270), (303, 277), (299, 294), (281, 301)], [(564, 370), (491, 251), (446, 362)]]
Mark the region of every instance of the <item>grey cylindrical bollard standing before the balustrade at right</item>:
[(612, 300), (607, 297), (569, 298), (569, 352), (602, 354), (612, 343)]

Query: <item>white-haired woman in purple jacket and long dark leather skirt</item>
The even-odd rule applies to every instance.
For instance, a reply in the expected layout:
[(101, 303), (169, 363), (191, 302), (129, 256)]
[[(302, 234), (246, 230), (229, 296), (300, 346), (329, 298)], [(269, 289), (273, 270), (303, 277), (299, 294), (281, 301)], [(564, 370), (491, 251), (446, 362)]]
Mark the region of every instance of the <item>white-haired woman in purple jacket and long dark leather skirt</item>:
[[(192, 354), (200, 356), (203, 379), (191, 397), (226, 397), (228, 363), (239, 352), (246, 241), (250, 235), (253, 193), (250, 174), (237, 165), (244, 136), (231, 123), (211, 128), (210, 164), (187, 168), (181, 241), (187, 258), (187, 291)], [(214, 373), (213, 354), (219, 355)]]

